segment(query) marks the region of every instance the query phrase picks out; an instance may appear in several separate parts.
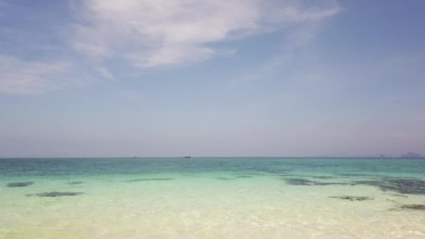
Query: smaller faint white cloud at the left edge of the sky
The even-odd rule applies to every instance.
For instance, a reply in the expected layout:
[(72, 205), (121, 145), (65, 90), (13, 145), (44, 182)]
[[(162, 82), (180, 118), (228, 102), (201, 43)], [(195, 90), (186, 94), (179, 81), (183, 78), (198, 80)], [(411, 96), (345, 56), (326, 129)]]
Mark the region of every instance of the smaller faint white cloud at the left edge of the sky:
[(71, 64), (66, 61), (24, 61), (0, 55), (0, 92), (38, 94), (60, 89), (67, 84), (60, 76)]

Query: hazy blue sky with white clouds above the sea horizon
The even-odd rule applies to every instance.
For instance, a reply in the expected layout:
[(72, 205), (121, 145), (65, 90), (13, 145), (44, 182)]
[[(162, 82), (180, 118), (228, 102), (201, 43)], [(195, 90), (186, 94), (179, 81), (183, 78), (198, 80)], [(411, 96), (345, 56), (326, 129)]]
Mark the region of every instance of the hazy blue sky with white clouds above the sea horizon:
[(424, 155), (424, 9), (0, 0), (0, 157)]

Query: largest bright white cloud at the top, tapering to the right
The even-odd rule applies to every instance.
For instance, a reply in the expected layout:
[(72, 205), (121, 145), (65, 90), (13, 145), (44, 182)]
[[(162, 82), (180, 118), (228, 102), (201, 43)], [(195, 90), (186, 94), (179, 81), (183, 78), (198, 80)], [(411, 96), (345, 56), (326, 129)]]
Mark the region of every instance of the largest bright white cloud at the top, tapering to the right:
[(74, 10), (81, 22), (74, 25), (73, 48), (144, 68), (202, 61), (222, 51), (210, 43), (322, 20), (339, 8), (331, 0), (314, 6), (278, 0), (87, 0)]

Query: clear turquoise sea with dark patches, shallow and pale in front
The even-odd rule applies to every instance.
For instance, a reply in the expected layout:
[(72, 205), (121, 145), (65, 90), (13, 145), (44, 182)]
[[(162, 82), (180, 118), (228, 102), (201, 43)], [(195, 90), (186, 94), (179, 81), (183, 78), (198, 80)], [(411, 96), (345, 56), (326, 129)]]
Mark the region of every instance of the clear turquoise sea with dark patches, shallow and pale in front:
[(425, 238), (424, 159), (0, 159), (0, 238)]

